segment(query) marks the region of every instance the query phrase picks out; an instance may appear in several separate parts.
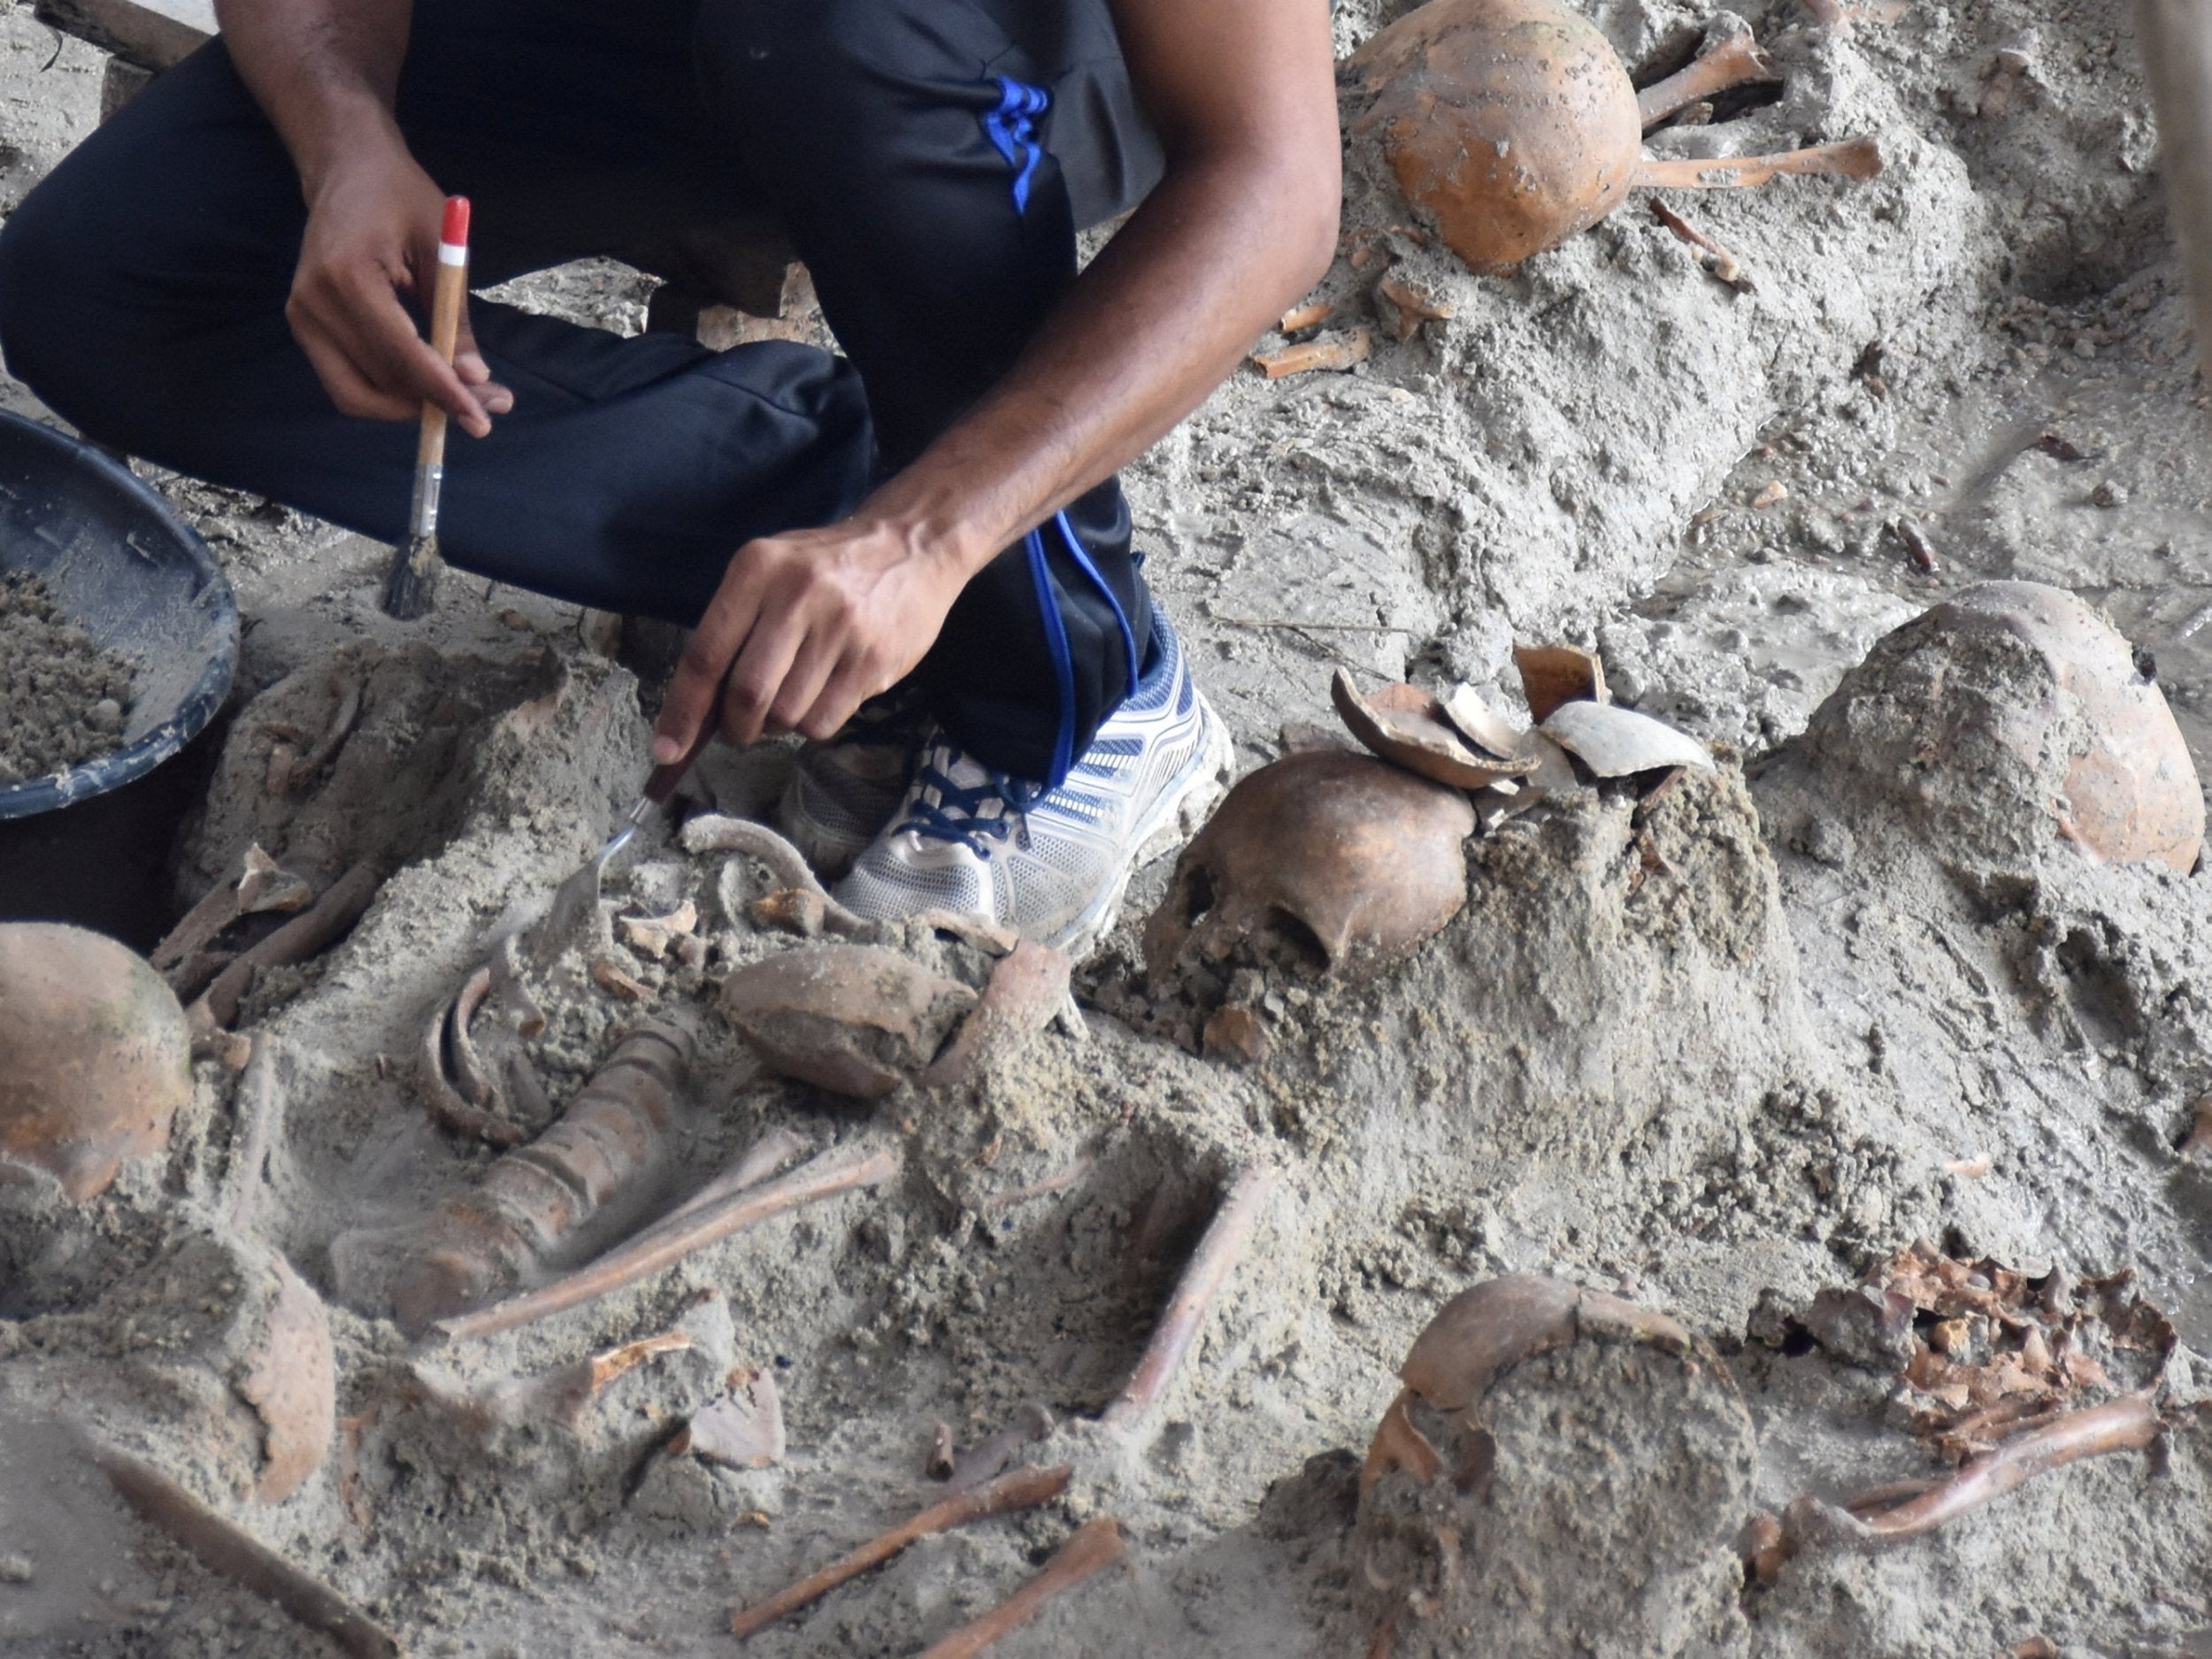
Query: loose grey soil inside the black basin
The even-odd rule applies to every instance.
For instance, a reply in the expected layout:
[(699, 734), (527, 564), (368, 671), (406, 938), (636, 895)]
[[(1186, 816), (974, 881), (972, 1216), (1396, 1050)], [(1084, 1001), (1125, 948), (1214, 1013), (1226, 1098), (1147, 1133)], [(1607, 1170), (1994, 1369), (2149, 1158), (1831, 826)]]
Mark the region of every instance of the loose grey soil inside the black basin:
[(131, 664), (55, 611), (35, 575), (0, 577), (0, 787), (106, 754), (131, 710)]

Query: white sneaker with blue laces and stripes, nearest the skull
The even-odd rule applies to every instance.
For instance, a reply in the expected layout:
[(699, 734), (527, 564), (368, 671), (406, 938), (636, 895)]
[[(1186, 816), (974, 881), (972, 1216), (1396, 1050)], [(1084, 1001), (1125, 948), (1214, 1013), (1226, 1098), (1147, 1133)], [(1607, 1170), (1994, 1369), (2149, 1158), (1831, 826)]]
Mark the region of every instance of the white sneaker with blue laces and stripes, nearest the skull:
[(876, 920), (982, 916), (1082, 958), (1121, 911), (1130, 874), (1181, 845), (1228, 790), (1228, 728), (1152, 613), (1152, 670), (1051, 792), (991, 772), (942, 732), (889, 827), (836, 885)]

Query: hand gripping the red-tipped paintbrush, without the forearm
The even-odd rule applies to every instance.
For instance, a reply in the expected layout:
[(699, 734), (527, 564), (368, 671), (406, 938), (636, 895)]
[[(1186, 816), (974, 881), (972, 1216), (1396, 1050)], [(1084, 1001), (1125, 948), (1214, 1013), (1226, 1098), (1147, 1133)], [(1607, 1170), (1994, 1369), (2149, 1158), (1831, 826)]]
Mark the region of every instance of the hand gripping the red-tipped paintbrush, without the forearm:
[(442, 212), (445, 192), (396, 137), (354, 148), (310, 192), (285, 319), (341, 411), (414, 420), (434, 403), (482, 438), (515, 398), (493, 385), (467, 307), (447, 367), (400, 303), (403, 290), (429, 303)]

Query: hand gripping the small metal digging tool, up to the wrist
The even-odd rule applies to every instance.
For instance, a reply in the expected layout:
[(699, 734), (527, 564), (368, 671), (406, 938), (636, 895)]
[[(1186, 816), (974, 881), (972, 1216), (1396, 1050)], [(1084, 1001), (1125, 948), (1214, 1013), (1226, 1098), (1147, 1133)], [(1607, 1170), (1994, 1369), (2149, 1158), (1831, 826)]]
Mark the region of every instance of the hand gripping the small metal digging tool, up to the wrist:
[(922, 659), (964, 573), (907, 529), (845, 520), (748, 542), (684, 648), (653, 759), (681, 761), (719, 721), (825, 739)]

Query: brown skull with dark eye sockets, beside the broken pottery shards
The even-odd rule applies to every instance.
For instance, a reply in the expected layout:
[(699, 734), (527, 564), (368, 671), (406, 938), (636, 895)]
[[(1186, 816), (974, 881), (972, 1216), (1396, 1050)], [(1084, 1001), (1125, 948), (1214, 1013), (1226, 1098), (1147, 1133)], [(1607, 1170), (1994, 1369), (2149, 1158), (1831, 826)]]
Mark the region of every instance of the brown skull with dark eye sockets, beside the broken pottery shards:
[(1473, 827), (1464, 794), (1365, 754), (1263, 765), (1177, 860), (1146, 967), (1159, 982), (1270, 947), (1321, 969), (1394, 962), (1467, 902)]

